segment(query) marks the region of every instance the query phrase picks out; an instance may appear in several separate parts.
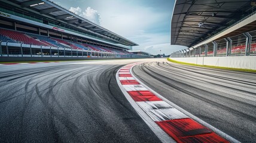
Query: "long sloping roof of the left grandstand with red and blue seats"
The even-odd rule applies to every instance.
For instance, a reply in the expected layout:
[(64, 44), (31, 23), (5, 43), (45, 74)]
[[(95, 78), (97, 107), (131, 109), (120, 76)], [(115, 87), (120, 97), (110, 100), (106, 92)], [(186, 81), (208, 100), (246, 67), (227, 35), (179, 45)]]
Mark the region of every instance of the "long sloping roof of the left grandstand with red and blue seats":
[(22, 6), (22, 8), (29, 8), (31, 10), (37, 11), (42, 15), (48, 15), (53, 17), (55, 20), (65, 21), (68, 24), (72, 24), (76, 27), (82, 27), (89, 30), (90, 32), (100, 34), (106, 38), (111, 38), (118, 43), (127, 46), (137, 46), (138, 44), (132, 41), (129, 41), (126, 38), (123, 38), (120, 35), (117, 35), (114, 32), (111, 32), (86, 18), (80, 17), (77, 14), (72, 13), (66, 8), (61, 7), (60, 5), (55, 4), (54, 2), (48, 0), (14, 0), (16, 4)]

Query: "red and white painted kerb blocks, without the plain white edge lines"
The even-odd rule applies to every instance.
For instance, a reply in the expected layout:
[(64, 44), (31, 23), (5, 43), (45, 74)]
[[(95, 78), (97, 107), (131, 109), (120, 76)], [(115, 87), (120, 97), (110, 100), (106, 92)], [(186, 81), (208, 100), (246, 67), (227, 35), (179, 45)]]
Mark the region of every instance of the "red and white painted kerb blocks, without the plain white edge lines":
[(164, 132), (176, 142), (229, 142), (161, 100), (135, 80), (130, 69), (136, 64), (122, 67), (118, 71), (118, 78), (130, 97)]

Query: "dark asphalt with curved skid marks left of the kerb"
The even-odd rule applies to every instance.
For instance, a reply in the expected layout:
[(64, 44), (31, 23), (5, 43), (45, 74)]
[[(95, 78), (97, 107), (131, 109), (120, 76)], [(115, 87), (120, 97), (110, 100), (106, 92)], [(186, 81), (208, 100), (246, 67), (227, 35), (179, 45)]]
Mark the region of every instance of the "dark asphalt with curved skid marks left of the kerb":
[(135, 61), (1, 66), (0, 142), (160, 142), (115, 80)]

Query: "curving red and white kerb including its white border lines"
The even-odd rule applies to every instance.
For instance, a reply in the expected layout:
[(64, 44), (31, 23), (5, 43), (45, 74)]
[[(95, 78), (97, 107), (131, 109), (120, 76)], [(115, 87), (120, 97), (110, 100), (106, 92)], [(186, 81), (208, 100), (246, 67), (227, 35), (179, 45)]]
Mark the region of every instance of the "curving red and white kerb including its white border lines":
[(148, 88), (128, 64), (117, 71), (121, 91), (162, 142), (239, 142)]

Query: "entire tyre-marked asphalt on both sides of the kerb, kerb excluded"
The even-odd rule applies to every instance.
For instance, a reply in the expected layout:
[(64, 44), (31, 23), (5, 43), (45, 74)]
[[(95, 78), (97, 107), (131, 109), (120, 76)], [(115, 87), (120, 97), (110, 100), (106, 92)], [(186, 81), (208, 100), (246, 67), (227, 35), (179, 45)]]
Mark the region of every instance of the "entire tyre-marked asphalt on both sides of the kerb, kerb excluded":
[(256, 74), (165, 59), (0, 66), (0, 142), (160, 142), (115, 80), (121, 66), (241, 142), (256, 141)]

